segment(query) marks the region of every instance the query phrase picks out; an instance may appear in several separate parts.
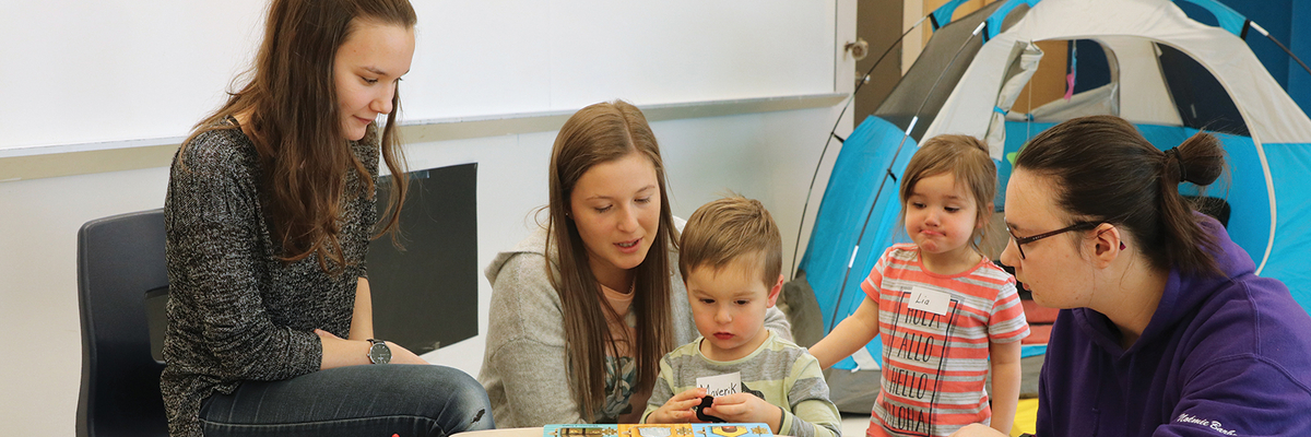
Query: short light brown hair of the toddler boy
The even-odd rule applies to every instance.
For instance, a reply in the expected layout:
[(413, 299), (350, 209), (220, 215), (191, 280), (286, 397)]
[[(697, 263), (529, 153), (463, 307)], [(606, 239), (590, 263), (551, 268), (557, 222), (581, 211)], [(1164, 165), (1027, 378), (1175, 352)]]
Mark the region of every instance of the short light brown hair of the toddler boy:
[(694, 268), (720, 270), (743, 256), (759, 261), (766, 289), (777, 283), (783, 272), (779, 226), (759, 201), (730, 194), (692, 213), (683, 227), (678, 270), (687, 281)]

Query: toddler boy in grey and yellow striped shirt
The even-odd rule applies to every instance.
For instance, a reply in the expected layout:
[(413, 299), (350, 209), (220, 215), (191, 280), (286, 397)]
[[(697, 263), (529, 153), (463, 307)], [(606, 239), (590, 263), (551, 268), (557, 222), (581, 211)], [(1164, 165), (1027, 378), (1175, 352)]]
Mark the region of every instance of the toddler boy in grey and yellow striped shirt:
[(764, 328), (783, 289), (783, 240), (760, 202), (730, 196), (688, 219), (678, 268), (700, 339), (661, 360), (642, 423), (699, 421), (699, 378), (738, 373), (738, 392), (716, 395), (703, 415), (768, 424), (775, 434), (840, 437), (819, 362)]

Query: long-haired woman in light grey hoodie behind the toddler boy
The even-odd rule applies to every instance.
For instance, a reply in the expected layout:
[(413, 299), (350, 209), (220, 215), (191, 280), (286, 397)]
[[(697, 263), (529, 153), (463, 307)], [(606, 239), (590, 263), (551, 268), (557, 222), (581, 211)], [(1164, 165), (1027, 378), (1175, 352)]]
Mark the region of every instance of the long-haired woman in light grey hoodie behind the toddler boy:
[[(573, 114), (551, 154), (545, 226), (486, 268), (479, 379), (501, 427), (637, 423), (659, 358), (696, 339), (656, 134), (636, 106)], [(766, 325), (785, 339), (771, 308)]]

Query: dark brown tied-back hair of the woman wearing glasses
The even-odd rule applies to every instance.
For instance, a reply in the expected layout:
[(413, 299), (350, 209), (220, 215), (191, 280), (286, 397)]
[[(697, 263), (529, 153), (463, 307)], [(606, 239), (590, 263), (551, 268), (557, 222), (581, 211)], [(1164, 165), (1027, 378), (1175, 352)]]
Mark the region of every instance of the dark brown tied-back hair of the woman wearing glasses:
[(1074, 219), (1127, 230), (1152, 268), (1221, 273), (1211, 255), (1219, 243), (1179, 193), (1181, 182), (1210, 185), (1224, 171), (1215, 136), (1197, 133), (1162, 152), (1118, 117), (1082, 117), (1034, 136), (1015, 168), (1051, 177), (1058, 205)]

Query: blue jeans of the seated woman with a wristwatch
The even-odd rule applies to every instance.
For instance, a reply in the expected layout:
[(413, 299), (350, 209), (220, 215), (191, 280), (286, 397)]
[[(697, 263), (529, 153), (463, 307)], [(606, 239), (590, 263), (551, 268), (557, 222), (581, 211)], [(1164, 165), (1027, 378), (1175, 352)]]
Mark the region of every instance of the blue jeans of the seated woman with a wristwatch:
[(201, 407), (205, 436), (448, 436), (493, 429), (486, 391), (444, 366), (366, 365), (246, 381)]

